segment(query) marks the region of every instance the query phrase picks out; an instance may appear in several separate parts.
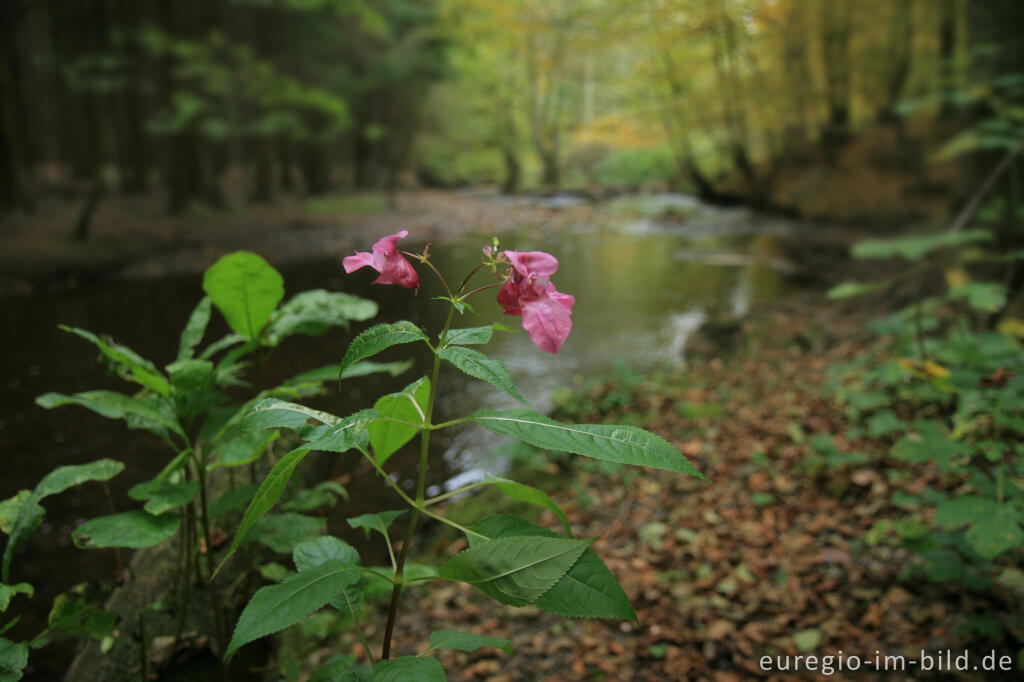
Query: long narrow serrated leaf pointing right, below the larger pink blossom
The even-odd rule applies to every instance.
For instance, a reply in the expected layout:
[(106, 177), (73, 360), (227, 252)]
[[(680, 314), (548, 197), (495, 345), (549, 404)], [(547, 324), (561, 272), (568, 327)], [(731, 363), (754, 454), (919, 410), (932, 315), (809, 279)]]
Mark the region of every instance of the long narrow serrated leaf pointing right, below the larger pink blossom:
[(529, 410), (481, 410), (473, 415), (473, 421), (535, 447), (677, 471), (708, 480), (667, 440), (635, 426), (560, 424)]

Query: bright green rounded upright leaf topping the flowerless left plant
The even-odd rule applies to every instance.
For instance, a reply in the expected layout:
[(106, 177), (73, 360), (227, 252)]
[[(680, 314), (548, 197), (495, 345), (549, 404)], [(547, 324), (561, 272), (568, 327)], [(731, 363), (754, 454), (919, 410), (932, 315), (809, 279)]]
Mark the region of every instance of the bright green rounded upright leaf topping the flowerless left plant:
[(285, 297), (285, 281), (278, 270), (254, 253), (228, 254), (211, 265), (203, 291), (224, 315), (227, 326), (256, 340)]

